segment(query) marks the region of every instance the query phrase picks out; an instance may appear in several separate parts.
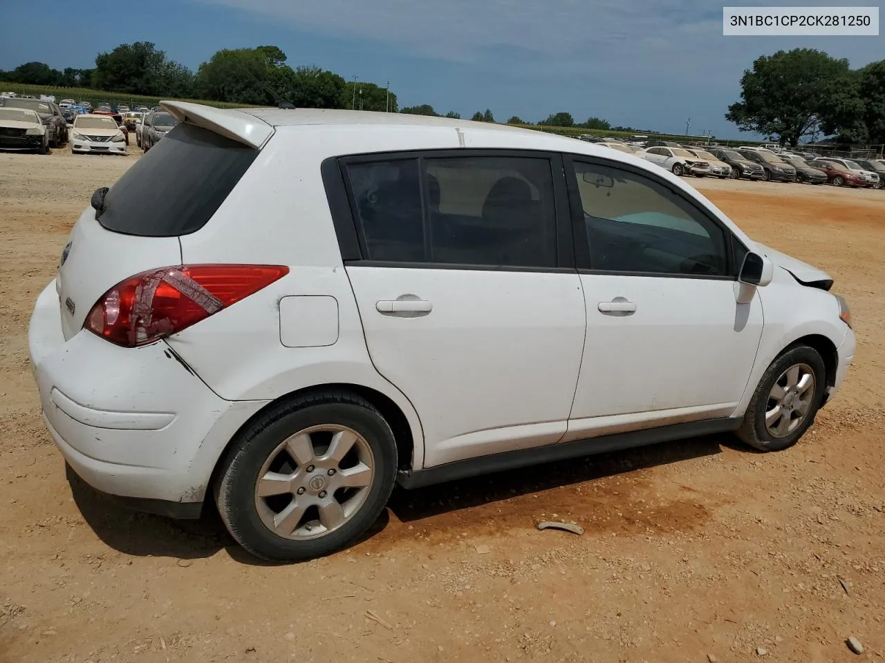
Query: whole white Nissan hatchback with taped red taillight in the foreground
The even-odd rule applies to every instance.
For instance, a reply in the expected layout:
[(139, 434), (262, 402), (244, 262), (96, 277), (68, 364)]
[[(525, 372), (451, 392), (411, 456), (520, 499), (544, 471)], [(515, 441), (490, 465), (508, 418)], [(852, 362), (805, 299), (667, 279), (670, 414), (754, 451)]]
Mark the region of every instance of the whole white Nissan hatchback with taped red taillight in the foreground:
[(822, 271), (673, 174), (547, 133), (164, 103), (29, 344), (78, 475), (255, 554), (349, 545), (398, 482), (736, 431), (797, 441), (855, 348)]

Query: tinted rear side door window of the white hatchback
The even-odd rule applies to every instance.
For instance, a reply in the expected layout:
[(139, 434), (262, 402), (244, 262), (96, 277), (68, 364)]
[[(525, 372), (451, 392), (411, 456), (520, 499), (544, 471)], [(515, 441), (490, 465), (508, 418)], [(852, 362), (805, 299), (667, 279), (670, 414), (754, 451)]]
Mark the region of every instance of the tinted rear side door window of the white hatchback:
[(555, 267), (550, 162), (458, 156), (349, 164), (369, 260)]

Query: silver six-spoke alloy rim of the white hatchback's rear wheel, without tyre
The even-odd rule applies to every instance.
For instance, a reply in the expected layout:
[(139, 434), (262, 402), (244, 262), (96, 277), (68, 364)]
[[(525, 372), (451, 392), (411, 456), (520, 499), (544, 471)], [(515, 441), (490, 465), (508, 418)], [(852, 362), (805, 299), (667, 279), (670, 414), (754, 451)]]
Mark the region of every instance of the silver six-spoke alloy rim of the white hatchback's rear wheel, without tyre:
[(323, 537), (366, 502), (374, 466), (372, 448), (356, 431), (331, 423), (298, 431), (258, 472), (258, 516), (278, 537)]

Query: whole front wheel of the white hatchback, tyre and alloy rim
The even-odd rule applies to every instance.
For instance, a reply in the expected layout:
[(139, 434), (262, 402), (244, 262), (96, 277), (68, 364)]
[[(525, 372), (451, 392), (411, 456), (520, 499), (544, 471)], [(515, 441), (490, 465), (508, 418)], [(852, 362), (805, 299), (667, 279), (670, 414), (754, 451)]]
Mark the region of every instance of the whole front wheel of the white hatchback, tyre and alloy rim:
[(814, 422), (827, 371), (813, 347), (796, 346), (768, 367), (737, 435), (759, 451), (780, 451), (796, 444)]

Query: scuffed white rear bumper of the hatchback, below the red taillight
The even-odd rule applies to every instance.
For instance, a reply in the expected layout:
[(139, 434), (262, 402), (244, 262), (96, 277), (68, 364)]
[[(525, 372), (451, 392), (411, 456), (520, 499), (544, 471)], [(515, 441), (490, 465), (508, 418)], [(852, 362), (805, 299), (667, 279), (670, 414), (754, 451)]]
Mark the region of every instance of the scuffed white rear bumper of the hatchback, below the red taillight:
[(65, 460), (101, 492), (198, 514), (220, 454), (266, 401), (219, 398), (165, 342), (117, 347), (89, 331), (65, 340), (61, 315), (53, 281), (37, 299), (28, 349)]

